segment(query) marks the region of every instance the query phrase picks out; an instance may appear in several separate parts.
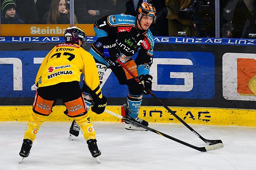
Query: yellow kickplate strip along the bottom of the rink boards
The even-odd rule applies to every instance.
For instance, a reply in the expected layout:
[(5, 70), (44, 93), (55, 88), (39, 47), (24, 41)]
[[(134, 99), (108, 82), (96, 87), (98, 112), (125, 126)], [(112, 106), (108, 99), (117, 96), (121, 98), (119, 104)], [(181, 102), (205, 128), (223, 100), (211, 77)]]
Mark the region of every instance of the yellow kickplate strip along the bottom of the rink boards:
[[(219, 109), (199, 107), (169, 107), (172, 111), (189, 124), (209, 125), (236, 125), (256, 127), (256, 112), (245, 109)], [(125, 115), (123, 106), (107, 106), (107, 110), (119, 115)], [(69, 122), (72, 118), (67, 117), (63, 111), (65, 106), (53, 107), (53, 112), (48, 116), (48, 122)], [(32, 112), (32, 106), (0, 106), (0, 122), (4, 121), (28, 121)], [(122, 122), (107, 113), (97, 115), (89, 111), (94, 122)], [(139, 117), (150, 123), (180, 123), (164, 107), (141, 106)]]

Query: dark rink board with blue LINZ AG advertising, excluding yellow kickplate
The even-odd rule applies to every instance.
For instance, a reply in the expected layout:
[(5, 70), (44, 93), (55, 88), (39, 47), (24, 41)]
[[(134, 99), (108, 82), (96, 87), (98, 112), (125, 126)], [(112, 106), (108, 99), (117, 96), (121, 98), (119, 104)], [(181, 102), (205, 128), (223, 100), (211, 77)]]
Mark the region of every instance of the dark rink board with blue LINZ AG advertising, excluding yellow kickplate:
[[(95, 39), (87, 37), (83, 48), (88, 51)], [(33, 103), (41, 61), (63, 41), (63, 37), (0, 37), (0, 106)], [(256, 40), (248, 39), (155, 37), (152, 92), (168, 106), (255, 109), (256, 95), (249, 87), (256, 75), (255, 46)], [(122, 106), (128, 88), (119, 85), (111, 72), (105, 77), (102, 92), (108, 105)], [(161, 103), (145, 95), (142, 105)]]

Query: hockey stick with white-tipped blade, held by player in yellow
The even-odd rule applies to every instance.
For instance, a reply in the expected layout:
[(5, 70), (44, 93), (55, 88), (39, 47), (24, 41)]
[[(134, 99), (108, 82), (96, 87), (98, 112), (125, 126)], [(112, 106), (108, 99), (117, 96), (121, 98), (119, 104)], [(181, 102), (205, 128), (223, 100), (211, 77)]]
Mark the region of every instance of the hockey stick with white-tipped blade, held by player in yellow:
[(149, 130), (149, 131), (151, 131), (151, 132), (154, 132), (154, 133), (156, 133), (156, 134), (158, 134), (158, 135), (167, 137), (168, 139), (174, 140), (174, 141), (176, 141), (177, 143), (183, 144), (183, 145), (185, 145), (185, 146), (188, 146), (188, 147), (190, 147), (190, 148), (199, 150), (199, 151), (201, 151), (201, 152), (208, 152), (208, 151), (210, 151), (210, 150), (221, 149), (221, 148), (224, 147), (224, 145), (223, 145), (222, 143), (217, 143), (217, 144), (213, 144), (213, 145), (209, 145), (209, 146), (204, 146), (204, 147), (197, 147), (197, 146), (188, 144), (188, 143), (186, 143), (186, 142), (184, 142), (184, 141), (182, 141), (182, 140), (176, 139), (175, 137), (166, 135), (166, 134), (164, 134), (164, 133), (162, 133), (162, 132), (159, 132), (159, 131), (157, 131), (157, 130), (155, 130), (155, 129), (152, 129), (152, 128), (150, 128), (150, 127), (143, 126), (142, 124), (139, 124), (139, 123), (137, 123), (137, 122), (134, 122), (134, 121), (132, 121), (132, 120), (130, 120), (130, 119), (128, 119), (128, 118), (125, 118), (125, 117), (123, 117), (123, 116), (121, 116), (121, 115), (118, 115), (118, 114), (116, 114), (116, 113), (114, 113), (114, 112), (112, 112), (112, 111), (109, 111), (109, 110), (107, 110), (107, 109), (105, 109), (104, 112), (106, 112), (107, 114), (111, 114), (111, 115), (113, 115), (113, 116), (115, 116), (115, 117), (117, 117), (117, 118), (123, 119), (123, 120), (125, 120), (126, 122), (129, 122), (130, 124), (134, 124), (134, 125), (136, 125), (136, 126), (142, 127), (142, 128), (144, 128), (144, 129), (147, 129), (147, 130)]

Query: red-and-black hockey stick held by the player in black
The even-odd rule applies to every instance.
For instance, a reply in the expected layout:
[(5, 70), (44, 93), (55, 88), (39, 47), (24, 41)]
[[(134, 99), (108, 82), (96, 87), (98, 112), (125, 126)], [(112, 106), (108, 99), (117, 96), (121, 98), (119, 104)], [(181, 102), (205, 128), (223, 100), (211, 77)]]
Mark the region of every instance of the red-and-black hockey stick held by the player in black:
[[(117, 59), (117, 62), (138, 82), (140, 83), (140, 80), (119, 60)], [(221, 140), (209, 140), (205, 139), (203, 136), (201, 136), (199, 133), (197, 133), (192, 127), (190, 127), (184, 120), (182, 120), (178, 115), (176, 115), (176, 111), (172, 111), (168, 106), (166, 106), (159, 98), (155, 96), (151, 92), (151, 90), (148, 90), (149, 94), (153, 96), (161, 105), (169, 112), (171, 113), (176, 119), (178, 119), (182, 124), (184, 124), (189, 130), (191, 130), (197, 137), (199, 137), (201, 140), (203, 140), (205, 143), (212, 145), (212, 144), (217, 144), (217, 143), (222, 143)]]

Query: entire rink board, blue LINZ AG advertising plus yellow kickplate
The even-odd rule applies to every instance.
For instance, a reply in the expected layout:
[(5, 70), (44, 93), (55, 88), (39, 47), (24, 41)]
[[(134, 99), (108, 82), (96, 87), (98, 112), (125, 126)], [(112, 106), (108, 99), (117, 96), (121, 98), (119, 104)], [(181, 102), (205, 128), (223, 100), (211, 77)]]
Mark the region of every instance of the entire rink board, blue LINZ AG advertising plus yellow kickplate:
[[(87, 37), (83, 48), (89, 51), (95, 40)], [(48, 51), (63, 41), (0, 37), (0, 121), (28, 120), (37, 70)], [(255, 46), (256, 40), (248, 39), (155, 37), (152, 92), (187, 123), (256, 126), (256, 89), (249, 86), (256, 76)], [(121, 106), (127, 102), (128, 88), (119, 85), (113, 73), (102, 92), (107, 108), (124, 115)], [(56, 105), (63, 102), (57, 100)], [(144, 95), (142, 105), (140, 117), (149, 122), (179, 123), (151, 95)], [(48, 121), (71, 121), (64, 110), (53, 108)], [(107, 114), (91, 116), (94, 121), (121, 121)]]

